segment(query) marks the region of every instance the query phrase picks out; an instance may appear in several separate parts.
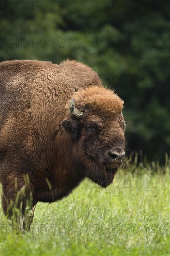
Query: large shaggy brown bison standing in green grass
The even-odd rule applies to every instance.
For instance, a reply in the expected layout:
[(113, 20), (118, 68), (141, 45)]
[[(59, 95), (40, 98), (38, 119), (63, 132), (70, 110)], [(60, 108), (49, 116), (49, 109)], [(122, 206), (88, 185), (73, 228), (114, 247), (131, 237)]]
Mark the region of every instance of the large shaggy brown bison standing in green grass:
[[(0, 63), (2, 206), (29, 229), (36, 203), (88, 177), (105, 188), (124, 159), (123, 101), (74, 60)], [(18, 209), (19, 216), (13, 209)]]

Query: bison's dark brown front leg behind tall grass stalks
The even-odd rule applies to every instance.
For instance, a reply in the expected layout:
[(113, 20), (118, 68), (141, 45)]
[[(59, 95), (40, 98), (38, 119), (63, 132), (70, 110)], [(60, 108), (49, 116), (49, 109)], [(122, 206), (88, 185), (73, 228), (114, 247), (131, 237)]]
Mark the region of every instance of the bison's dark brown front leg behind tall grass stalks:
[(13, 182), (9, 182), (8, 187), (3, 187), (3, 211), (16, 229), (29, 231), (37, 201), (33, 200), (33, 193), (25, 181), (17, 183), (18, 186), (13, 186)]

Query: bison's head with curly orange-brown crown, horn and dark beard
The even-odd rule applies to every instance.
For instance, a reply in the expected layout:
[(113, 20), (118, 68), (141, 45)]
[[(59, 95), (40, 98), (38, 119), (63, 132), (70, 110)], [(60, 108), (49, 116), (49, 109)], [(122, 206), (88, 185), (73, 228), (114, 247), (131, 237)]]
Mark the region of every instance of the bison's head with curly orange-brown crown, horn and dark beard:
[(113, 91), (95, 86), (73, 96), (61, 123), (72, 165), (107, 187), (125, 156), (123, 101)]

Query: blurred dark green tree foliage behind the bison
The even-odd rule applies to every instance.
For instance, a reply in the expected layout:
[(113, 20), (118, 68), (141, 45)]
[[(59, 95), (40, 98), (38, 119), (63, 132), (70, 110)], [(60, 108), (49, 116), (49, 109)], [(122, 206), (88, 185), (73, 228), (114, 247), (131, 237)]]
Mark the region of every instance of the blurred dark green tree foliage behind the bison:
[(168, 0), (1, 1), (0, 61), (81, 61), (124, 100), (127, 153), (170, 147)]

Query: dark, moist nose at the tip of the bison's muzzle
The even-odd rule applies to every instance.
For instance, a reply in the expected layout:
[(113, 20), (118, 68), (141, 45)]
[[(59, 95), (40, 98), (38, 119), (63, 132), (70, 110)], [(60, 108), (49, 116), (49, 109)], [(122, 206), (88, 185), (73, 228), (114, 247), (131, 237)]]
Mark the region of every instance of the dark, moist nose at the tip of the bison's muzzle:
[(105, 152), (105, 161), (107, 163), (121, 163), (124, 159), (123, 149), (112, 149)]

